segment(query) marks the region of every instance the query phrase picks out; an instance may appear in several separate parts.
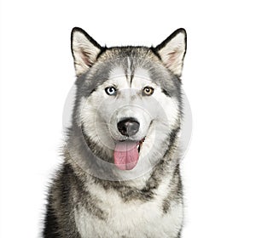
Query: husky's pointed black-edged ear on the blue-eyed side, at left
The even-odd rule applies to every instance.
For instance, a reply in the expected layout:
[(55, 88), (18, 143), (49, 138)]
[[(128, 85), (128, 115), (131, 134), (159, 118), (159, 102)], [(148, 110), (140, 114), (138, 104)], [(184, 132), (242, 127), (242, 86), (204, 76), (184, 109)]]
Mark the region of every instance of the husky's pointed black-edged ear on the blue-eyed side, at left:
[(95, 63), (102, 51), (102, 47), (79, 27), (73, 28), (71, 33), (71, 49), (77, 77)]

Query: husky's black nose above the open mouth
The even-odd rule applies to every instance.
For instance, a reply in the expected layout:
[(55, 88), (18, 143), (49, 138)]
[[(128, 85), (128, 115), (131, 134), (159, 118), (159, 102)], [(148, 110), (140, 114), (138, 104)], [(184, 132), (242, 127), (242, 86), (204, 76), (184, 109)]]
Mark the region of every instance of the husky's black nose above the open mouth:
[(118, 129), (122, 135), (132, 136), (137, 133), (140, 123), (135, 118), (125, 118), (118, 122)]

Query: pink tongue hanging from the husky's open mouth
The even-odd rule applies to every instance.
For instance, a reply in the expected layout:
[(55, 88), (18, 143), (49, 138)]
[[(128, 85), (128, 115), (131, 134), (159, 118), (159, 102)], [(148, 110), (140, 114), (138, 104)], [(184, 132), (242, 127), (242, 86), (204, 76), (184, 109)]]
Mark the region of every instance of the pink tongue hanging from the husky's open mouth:
[(114, 164), (121, 170), (131, 170), (137, 165), (137, 142), (124, 141), (115, 145), (113, 152)]

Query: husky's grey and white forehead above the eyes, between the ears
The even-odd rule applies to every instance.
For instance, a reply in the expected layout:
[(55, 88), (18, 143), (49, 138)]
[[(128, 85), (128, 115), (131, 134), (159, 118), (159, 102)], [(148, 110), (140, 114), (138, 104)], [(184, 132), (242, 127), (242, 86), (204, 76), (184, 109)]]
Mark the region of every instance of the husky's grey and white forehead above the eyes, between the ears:
[(77, 81), (79, 92), (88, 97), (96, 88), (160, 87), (166, 95), (177, 94), (180, 82), (149, 48), (111, 48)]

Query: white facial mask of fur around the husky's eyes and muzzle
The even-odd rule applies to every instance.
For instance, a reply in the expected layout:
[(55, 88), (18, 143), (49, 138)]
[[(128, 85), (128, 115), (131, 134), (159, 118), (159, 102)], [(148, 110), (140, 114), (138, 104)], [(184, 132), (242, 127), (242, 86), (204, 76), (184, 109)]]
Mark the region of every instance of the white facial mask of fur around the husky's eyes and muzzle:
[[(105, 93), (105, 88), (113, 85), (119, 90), (117, 97)], [(146, 86), (154, 88), (152, 96), (142, 96)], [(85, 133), (110, 157), (113, 156), (115, 141), (125, 139), (117, 128), (119, 120), (135, 117), (140, 122), (139, 131), (131, 137), (135, 141), (146, 137), (137, 166), (131, 171), (120, 171), (112, 163), (106, 165), (116, 169), (124, 180), (145, 176), (145, 179), (140, 179), (140, 186), (144, 185), (159, 158), (164, 156), (170, 130), (176, 127), (179, 113), (177, 101), (161, 92), (160, 86), (151, 81), (148, 71), (137, 69), (130, 84), (120, 67), (113, 69), (108, 81), (103, 82), (88, 99), (81, 100), (80, 111), (79, 123), (84, 124)], [(132, 180), (131, 184), (138, 185)]]

